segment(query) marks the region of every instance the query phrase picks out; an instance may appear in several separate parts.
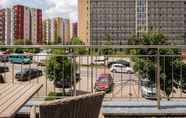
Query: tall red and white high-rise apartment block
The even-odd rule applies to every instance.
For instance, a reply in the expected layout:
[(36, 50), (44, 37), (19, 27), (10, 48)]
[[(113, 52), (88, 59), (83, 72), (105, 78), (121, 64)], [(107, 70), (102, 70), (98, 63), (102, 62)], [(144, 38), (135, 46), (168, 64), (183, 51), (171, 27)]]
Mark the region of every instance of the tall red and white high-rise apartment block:
[(42, 43), (42, 10), (15, 5), (6, 8), (0, 19), (3, 17), (5, 44), (14, 44), (16, 40)]

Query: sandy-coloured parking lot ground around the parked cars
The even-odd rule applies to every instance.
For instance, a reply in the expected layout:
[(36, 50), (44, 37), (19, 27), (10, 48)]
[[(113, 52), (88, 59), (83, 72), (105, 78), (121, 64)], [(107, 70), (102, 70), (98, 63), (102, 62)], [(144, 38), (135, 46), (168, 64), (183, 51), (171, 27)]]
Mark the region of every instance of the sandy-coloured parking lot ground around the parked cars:
[[(59, 91), (53, 85), (53, 82), (49, 81), (45, 75), (45, 66), (38, 66), (37, 64), (11, 64), (11, 63), (0, 63), (1, 66), (8, 66), (9, 72), (2, 74), (5, 78), (5, 81), (8, 83), (42, 83), (43, 88), (39, 91), (37, 96), (46, 96), (49, 92)], [(80, 73), (81, 80), (76, 84), (76, 90), (92, 92), (94, 91), (94, 85), (96, 78), (103, 73), (111, 73), (114, 80), (113, 90), (106, 95), (108, 98), (122, 98), (122, 99), (131, 99), (131, 98), (142, 98), (141, 95), (141, 86), (139, 83), (139, 78), (134, 74), (127, 73), (112, 73), (107, 67), (104, 66), (83, 66), (79, 64), (78, 71)], [(43, 76), (39, 78), (32, 79), (30, 81), (17, 81), (15, 79), (15, 74), (25, 68), (37, 68), (42, 70)], [(161, 95), (164, 96), (164, 93), (161, 92)], [(181, 92), (181, 90), (174, 89), (171, 97), (186, 97), (186, 95)]]

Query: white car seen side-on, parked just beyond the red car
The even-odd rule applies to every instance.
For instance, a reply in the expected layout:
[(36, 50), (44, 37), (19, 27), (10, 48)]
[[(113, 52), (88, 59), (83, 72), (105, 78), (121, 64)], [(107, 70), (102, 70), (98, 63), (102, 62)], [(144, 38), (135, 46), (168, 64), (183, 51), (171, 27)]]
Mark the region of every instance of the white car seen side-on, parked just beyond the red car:
[(131, 67), (125, 66), (123, 64), (113, 64), (110, 68), (110, 71), (114, 73), (128, 73), (128, 74), (134, 73)]

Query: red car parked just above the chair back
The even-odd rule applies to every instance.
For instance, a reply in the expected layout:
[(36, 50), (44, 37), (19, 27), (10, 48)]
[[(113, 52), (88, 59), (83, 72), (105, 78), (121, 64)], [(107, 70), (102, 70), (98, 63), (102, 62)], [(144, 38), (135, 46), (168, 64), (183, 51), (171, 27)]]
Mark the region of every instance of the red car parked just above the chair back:
[(113, 85), (113, 78), (110, 74), (101, 74), (96, 79), (95, 91), (111, 92)]

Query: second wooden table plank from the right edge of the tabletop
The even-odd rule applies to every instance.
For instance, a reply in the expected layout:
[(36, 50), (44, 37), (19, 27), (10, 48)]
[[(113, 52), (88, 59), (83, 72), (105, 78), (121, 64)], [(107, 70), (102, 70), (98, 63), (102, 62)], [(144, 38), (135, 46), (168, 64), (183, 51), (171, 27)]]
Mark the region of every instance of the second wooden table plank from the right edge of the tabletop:
[(22, 92), (25, 92), (25, 87), (30, 87), (28, 85), (20, 85), (17, 89), (15, 89), (13, 92), (8, 93), (7, 95), (4, 95), (2, 99), (0, 99), (0, 113), (3, 109), (3, 107), (6, 106), (7, 102), (10, 102), (12, 99), (15, 100), (18, 95), (20, 95)]

